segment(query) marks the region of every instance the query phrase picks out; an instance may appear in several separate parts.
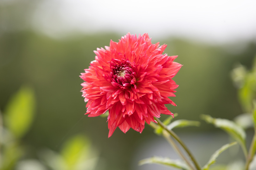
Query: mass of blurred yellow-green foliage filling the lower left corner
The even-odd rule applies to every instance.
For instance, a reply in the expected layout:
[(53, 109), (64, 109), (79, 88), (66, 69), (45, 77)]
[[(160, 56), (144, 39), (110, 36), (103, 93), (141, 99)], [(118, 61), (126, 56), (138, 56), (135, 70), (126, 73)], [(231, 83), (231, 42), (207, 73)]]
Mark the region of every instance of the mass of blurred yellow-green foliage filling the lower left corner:
[[(32, 88), (22, 86), (7, 103), (0, 124), (0, 170), (95, 170), (99, 157), (84, 135), (73, 136), (63, 144), (60, 154), (42, 149), (39, 160), (28, 159), (28, 148), (21, 142), (35, 113)], [(2, 114), (0, 113), (2, 121)]]

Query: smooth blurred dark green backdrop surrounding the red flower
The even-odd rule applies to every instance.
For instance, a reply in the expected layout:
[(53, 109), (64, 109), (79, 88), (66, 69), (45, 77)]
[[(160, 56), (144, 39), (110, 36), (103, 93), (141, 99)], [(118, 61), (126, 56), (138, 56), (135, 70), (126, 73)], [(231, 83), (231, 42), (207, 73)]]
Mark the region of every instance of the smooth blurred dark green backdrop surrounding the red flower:
[[(137, 146), (156, 135), (145, 126), (142, 134), (133, 130), (124, 134), (117, 129), (107, 138), (106, 118), (84, 115), (86, 103), (79, 77), (94, 60), (93, 50), (109, 46), (110, 39), (118, 41), (124, 34), (109, 31), (53, 38), (29, 27), (35, 2), (14, 2), (0, 3), (0, 109), (4, 117), (8, 102), (22, 85), (34, 90), (35, 114), (20, 138), (25, 147), (21, 159), (39, 159), (45, 148), (61, 152), (70, 137), (82, 134), (102, 159), (102, 169), (130, 170)], [(174, 78), (179, 84), (176, 97), (171, 98), (177, 106), (168, 105), (171, 112), (179, 113), (177, 119), (199, 120), (200, 114), (233, 119), (243, 113), (230, 72), (238, 63), (251, 68), (255, 41), (210, 45), (172, 36), (152, 39), (157, 42), (167, 44), (165, 53), (178, 55), (175, 61), (183, 64)], [(214, 130), (202, 123), (201, 128), (177, 131)]]

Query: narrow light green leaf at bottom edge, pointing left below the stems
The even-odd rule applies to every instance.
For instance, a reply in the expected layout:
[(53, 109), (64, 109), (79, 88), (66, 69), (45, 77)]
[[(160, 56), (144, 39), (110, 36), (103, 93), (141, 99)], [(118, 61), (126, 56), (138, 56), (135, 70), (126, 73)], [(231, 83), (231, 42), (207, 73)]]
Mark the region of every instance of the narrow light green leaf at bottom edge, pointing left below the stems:
[(150, 164), (150, 163), (161, 164), (169, 167), (175, 167), (182, 170), (190, 170), (187, 164), (185, 164), (181, 160), (172, 160), (169, 158), (162, 158), (162, 157), (151, 157), (151, 158), (147, 158), (139, 161), (139, 165)]

